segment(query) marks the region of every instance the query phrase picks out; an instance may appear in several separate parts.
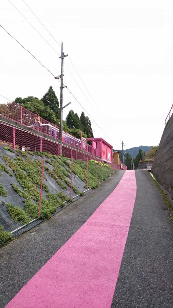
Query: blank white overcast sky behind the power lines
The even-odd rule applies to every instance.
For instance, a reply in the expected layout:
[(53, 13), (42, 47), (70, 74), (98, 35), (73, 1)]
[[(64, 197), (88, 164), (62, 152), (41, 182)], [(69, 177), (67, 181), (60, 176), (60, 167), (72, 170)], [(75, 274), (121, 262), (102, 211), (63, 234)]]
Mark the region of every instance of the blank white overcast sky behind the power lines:
[[(57, 50), (51, 38), (22, 0), (10, 0)], [(156, 146), (172, 105), (173, 2), (158, 0), (55, 1), (25, 0), (68, 53), (91, 96), (72, 66), (64, 59), (64, 84), (109, 138), (91, 120), (95, 137), (114, 148)], [(11, 5), (0, 1), (1, 25), (42, 62), (60, 75), (61, 59)], [(14, 100), (36, 96), (50, 85), (58, 99), (60, 84), (1, 27), (0, 94)], [(63, 120), (70, 109), (79, 117), (82, 107), (64, 89)], [(6, 100), (4, 100), (5, 102)], [(0, 99), (3, 103), (3, 99)], [(85, 115), (86, 112), (84, 111)]]

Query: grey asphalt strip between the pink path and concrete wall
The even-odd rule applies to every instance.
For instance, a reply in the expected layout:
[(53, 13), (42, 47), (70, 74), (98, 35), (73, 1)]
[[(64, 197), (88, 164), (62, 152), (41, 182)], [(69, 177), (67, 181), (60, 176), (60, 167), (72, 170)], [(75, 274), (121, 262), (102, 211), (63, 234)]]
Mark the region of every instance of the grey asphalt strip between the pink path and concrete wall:
[(111, 308), (173, 307), (173, 224), (147, 171), (137, 194)]

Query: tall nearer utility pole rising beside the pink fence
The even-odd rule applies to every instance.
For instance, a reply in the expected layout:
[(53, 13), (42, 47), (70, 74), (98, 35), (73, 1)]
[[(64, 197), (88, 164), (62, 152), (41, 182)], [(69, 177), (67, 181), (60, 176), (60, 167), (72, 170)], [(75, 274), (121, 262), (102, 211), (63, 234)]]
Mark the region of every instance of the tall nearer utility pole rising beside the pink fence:
[(62, 156), (62, 103), (63, 103), (63, 88), (66, 86), (63, 86), (63, 71), (64, 71), (64, 58), (68, 55), (64, 55), (63, 53), (63, 43), (61, 44), (61, 56), (59, 57), (61, 59), (61, 75), (58, 77), (55, 77), (55, 79), (61, 79), (61, 86), (60, 86), (60, 109), (59, 109), (59, 143), (60, 143), (60, 156)]

